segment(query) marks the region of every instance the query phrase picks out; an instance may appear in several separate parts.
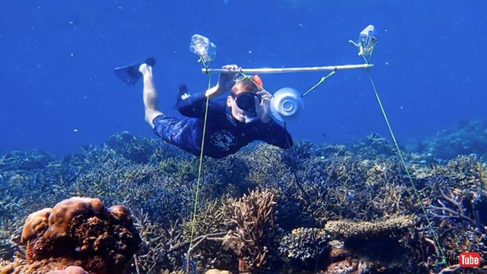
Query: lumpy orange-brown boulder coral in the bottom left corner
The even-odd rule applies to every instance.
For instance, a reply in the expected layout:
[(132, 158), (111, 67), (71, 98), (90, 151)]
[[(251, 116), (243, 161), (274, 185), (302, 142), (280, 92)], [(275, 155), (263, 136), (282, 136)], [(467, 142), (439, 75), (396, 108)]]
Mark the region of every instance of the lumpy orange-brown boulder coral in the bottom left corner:
[[(124, 273), (141, 245), (125, 207), (106, 208), (97, 198), (73, 197), (29, 215), (22, 232), (26, 259), (19, 273), (46, 273), (82, 266), (89, 273)], [(66, 268), (53, 273), (83, 273)]]

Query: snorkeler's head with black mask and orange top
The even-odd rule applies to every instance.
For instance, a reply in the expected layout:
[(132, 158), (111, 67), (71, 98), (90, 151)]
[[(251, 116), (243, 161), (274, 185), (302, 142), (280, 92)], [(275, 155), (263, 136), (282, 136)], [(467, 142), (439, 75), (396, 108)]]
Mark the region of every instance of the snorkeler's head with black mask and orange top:
[(230, 96), (227, 97), (227, 106), (237, 121), (250, 123), (258, 119), (255, 112), (255, 99), (260, 102), (261, 98), (256, 93), (262, 90), (262, 87), (262, 80), (257, 75), (235, 80)]

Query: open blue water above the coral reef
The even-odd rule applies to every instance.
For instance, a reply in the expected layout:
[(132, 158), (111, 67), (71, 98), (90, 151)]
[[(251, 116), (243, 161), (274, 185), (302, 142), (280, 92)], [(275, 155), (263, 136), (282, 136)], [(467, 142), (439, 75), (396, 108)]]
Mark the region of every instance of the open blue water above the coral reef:
[[(178, 85), (207, 86), (189, 52), (195, 33), (218, 46), (211, 67), (358, 64), (356, 40), (374, 24), (372, 75), (400, 142), (486, 119), (487, 1), (0, 1), (0, 154), (34, 148), (65, 155), (127, 130), (155, 137), (142, 85), (113, 67), (157, 59), (159, 107)], [(272, 92), (308, 89), (323, 74), (262, 76)], [(216, 77), (213, 78), (214, 83)], [(305, 98), (289, 123), (298, 139), (388, 136), (367, 73), (340, 71)]]

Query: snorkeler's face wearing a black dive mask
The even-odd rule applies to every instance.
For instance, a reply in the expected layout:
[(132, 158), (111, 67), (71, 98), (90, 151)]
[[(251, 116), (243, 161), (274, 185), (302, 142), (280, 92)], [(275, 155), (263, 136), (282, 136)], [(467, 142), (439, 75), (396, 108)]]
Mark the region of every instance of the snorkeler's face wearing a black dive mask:
[[(239, 94), (244, 94), (240, 95)], [(249, 95), (248, 98), (240, 98), (240, 97), (246, 97), (246, 95)], [(255, 121), (257, 119), (257, 114), (255, 114), (255, 108), (254, 110), (242, 110), (239, 108), (239, 105), (237, 105), (237, 100), (247, 100), (250, 104), (250, 99), (253, 99), (253, 96), (251, 94), (254, 94), (253, 92), (249, 92), (248, 89), (244, 85), (234, 85), (232, 87), (232, 92), (230, 96), (227, 97), (227, 106), (230, 108), (232, 111), (232, 116), (234, 119), (241, 123), (250, 123), (252, 121)], [(253, 101), (255, 105), (255, 101)], [(247, 105), (248, 105), (247, 104)]]

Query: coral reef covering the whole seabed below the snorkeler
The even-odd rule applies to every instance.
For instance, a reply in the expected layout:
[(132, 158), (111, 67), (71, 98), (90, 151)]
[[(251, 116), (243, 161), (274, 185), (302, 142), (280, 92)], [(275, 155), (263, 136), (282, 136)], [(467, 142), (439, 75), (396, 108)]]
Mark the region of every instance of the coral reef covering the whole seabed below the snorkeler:
[[(109, 264), (77, 257), (49, 271), (454, 273), (459, 266), (444, 257), (479, 252), (480, 267), (469, 271), (485, 273), (486, 163), (477, 155), (404, 155), (417, 192), (378, 135), (347, 146), (300, 141), (284, 151), (255, 144), (221, 160), (206, 157), (193, 223), (198, 158), (159, 140), (123, 132), (63, 159), (9, 153), (0, 158), (0, 268), (29, 273), (29, 262), (88, 250), (88, 258), (120, 257)], [(53, 206), (74, 196), (95, 201), (82, 200), (84, 217), (51, 229), (45, 220), (58, 212)], [(107, 212), (118, 212), (118, 221)], [(66, 235), (74, 248), (34, 252)]]

